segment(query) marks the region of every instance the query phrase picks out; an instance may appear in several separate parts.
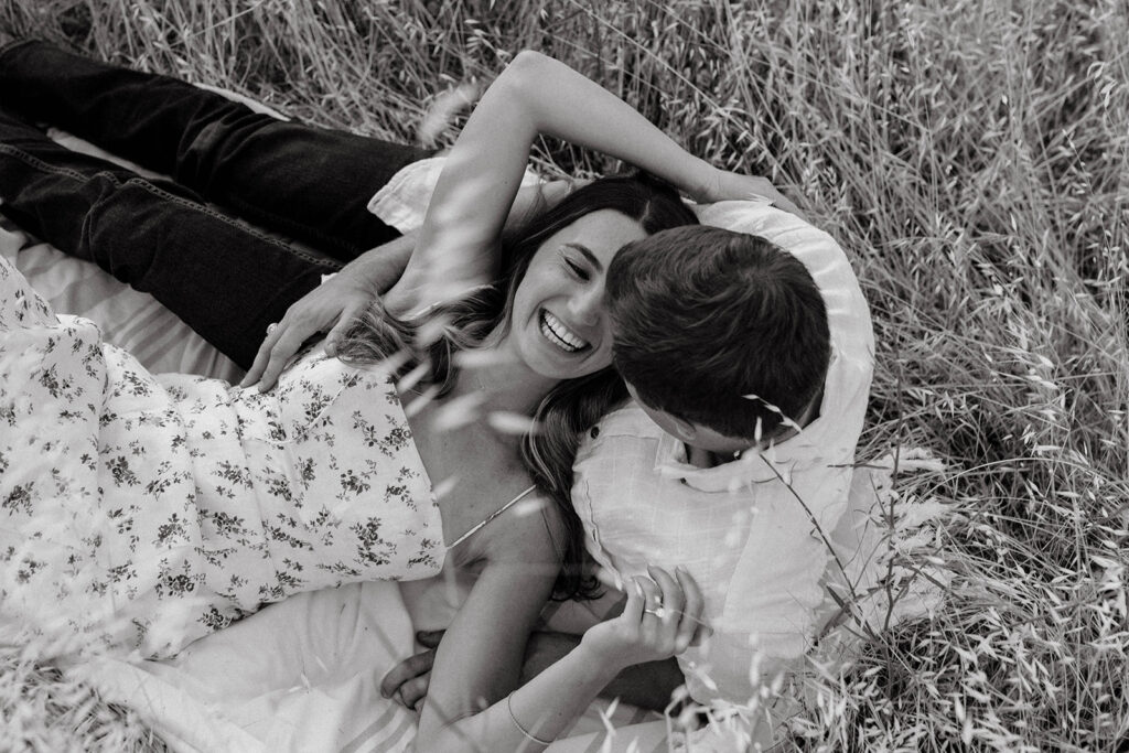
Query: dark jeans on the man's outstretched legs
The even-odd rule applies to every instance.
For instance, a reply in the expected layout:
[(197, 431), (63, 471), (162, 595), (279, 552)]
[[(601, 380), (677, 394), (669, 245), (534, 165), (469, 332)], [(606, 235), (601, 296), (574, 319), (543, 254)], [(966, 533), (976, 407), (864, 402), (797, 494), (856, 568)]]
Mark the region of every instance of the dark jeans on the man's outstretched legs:
[[(172, 180), (73, 152), (37, 124)], [(396, 170), (427, 156), (280, 122), (190, 84), (41, 42), (0, 51), (0, 211), (152, 294), (244, 368), (266, 325), (323, 273), (399, 235), (366, 205)]]

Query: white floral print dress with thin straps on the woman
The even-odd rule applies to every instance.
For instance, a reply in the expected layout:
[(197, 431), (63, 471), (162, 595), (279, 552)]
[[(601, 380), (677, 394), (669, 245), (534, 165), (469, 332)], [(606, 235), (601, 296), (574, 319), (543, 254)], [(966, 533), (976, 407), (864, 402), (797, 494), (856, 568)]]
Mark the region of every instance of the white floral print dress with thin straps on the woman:
[(307, 353), (266, 394), (155, 376), (0, 259), (0, 640), (169, 656), (444, 553), (386, 374)]

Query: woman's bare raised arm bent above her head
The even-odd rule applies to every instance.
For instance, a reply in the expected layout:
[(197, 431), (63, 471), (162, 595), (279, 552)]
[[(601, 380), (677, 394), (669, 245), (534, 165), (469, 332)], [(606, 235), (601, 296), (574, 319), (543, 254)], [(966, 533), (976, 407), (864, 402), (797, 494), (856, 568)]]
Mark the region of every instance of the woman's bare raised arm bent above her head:
[[(447, 157), (415, 252), (396, 288), (427, 288), (421, 304), (493, 278), (497, 243), (540, 134), (628, 161), (699, 201), (768, 196), (764, 178), (719, 170), (690, 155), (625, 102), (564, 63), (522, 52), (495, 79)], [(397, 290), (404, 286), (404, 289)]]

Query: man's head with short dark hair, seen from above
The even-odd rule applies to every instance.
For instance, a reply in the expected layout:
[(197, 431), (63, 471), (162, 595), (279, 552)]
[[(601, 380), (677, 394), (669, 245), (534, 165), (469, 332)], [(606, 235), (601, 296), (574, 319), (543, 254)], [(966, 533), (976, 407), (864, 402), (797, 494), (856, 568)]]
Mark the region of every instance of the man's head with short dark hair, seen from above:
[(807, 269), (764, 238), (674, 228), (607, 272), (613, 360), (668, 432), (714, 452), (780, 438), (814, 413), (831, 344)]

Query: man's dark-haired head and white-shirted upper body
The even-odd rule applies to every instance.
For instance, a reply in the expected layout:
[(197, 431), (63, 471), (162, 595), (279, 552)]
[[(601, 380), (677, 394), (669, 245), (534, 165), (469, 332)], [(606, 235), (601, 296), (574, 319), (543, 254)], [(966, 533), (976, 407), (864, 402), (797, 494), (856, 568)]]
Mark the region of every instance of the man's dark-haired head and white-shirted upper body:
[(636, 403), (585, 437), (572, 502), (616, 585), (675, 564), (701, 585), (714, 634), (679, 665), (694, 700), (763, 715), (760, 737), (781, 713), (768, 686), (823, 619), (873, 332), (826, 234), (743, 202), (699, 214), (609, 269), (613, 359)]

